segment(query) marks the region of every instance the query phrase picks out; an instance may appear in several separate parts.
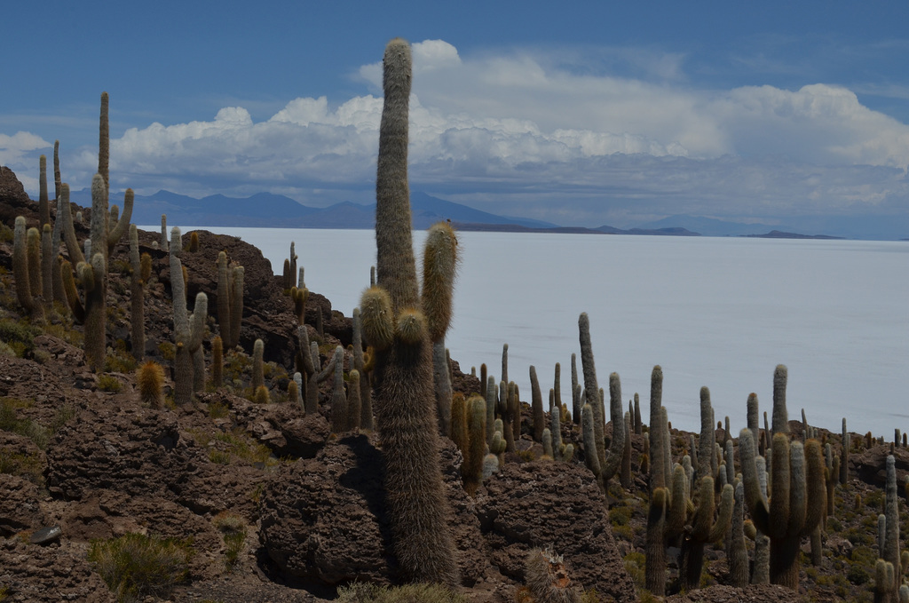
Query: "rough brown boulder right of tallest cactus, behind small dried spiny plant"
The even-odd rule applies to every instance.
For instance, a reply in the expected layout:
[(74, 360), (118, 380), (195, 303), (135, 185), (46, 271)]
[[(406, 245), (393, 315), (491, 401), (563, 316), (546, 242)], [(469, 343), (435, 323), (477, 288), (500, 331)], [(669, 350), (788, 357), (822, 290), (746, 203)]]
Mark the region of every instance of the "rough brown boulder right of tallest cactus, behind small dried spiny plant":
[(589, 470), (553, 461), (506, 464), (484, 485), (477, 514), (493, 563), (505, 576), (523, 580), (527, 552), (552, 547), (576, 584), (617, 601), (637, 600)]

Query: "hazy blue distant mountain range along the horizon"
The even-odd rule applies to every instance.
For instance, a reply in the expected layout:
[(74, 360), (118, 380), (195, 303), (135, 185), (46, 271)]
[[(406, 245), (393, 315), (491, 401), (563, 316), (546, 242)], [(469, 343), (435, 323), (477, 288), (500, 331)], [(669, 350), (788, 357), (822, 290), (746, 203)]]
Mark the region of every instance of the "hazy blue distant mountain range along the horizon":
[[(79, 205), (91, 206), (91, 192), (87, 188), (74, 191), (70, 199)], [(111, 202), (122, 205), (123, 193), (113, 195)], [(787, 219), (787, 223), (781, 225), (762, 222), (745, 224), (712, 217), (680, 215), (634, 225), (628, 229), (606, 225), (595, 228), (558, 226), (529, 218), (499, 216), (422, 192), (411, 194), (411, 211), (416, 229), (427, 228), (440, 220), (450, 220), (462, 230), (597, 235), (901, 239), (909, 234), (909, 217), (904, 216), (801, 216)], [(160, 190), (154, 195), (135, 196), (134, 224), (159, 224), (162, 214), (167, 215), (169, 224), (185, 226), (375, 227), (375, 204), (360, 205), (345, 201), (317, 208), (271, 193), (258, 193), (245, 198), (212, 195), (197, 199)]]

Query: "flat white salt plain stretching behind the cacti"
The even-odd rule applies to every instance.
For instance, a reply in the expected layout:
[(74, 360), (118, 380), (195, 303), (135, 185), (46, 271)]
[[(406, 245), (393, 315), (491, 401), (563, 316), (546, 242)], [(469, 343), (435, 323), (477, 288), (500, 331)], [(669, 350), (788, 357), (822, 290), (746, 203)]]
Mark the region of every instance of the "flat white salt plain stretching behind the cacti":
[[(259, 247), (278, 274), (295, 241), (306, 286), (345, 316), (375, 265), (370, 230), (208, 229)], [(750, 392), (769, 415), (782, 363), (790, 418), (804, 408), (811, 424), (836, 432), (842, 417), (861, 433), (909, 430), (909, 243), (473, 232), (459, 239), (447, 345), (462, 370), (485, 363), (497, 379), (507, 343), (509, 378), (522, 399), (530, 398), (529, 366), (545, 397), (559, 362), (570, 401), (577, 319), (586, 312), (600, 387), (618, 372), (625, 401), (638, 392), (644, 417), (659, 364), (674, 427), (699, 427), (707, 386), (717, 420), (730, 417), (737, 432)], [(415, 232), (417, 250), (422, 241)]]

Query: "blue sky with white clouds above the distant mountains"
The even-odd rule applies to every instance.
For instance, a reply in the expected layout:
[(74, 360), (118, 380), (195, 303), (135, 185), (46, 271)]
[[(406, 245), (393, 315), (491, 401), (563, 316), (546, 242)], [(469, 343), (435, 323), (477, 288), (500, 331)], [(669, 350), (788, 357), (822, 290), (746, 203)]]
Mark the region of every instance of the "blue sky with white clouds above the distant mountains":
[[(411, 183), (561, 225), (909, 218), (909, 4), (4, 6), (0, 164), (89, 186), (373, 200), (385, 43), (414, 44)], [(905, 236), (909, 236), (906, 233)]]

